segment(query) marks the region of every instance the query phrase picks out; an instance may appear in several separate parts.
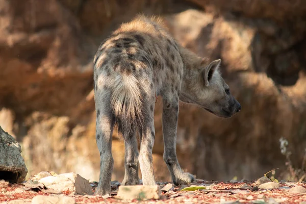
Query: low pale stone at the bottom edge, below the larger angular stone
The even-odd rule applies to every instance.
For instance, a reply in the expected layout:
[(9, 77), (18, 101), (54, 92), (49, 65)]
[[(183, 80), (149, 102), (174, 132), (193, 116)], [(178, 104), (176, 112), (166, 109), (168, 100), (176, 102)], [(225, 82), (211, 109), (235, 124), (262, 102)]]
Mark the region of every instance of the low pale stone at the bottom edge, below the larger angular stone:
[(64, 195), (37, 195), (32, 199), (32, 204), (74, 204), (75, 199)]

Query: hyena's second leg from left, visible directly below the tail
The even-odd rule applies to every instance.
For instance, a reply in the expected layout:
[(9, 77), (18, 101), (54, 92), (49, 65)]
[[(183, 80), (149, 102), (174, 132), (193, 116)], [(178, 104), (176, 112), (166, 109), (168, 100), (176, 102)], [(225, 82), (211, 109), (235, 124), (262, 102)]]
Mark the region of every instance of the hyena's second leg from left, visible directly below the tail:
[(124, 139), (125, 144), (125, 159), (124, 159), (124, 179), (122, 181), (123, 186), (138, 185), (138, 146), (136, 135), (130, 135)]

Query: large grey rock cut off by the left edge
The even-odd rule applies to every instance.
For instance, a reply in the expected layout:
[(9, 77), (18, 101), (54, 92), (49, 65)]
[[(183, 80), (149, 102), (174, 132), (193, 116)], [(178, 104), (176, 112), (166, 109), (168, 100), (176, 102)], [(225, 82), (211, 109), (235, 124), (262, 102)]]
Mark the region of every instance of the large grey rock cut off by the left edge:
[(24, 181), (28, 169), (20, 153), (20, 144), (0, 126), (0, 180)]

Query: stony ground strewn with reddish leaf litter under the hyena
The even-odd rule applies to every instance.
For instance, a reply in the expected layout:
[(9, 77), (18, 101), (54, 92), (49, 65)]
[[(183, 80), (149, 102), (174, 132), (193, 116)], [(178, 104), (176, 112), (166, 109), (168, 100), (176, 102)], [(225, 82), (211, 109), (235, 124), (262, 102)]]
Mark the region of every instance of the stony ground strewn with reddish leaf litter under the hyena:
[[(111, 196), (72, 195), (70, 191), (64, 191), (60, 194), (73, 197), (75, 203), (306, 203), (306, 193), (294, 193), (290, 190), (294, 186), (306, 188), (305, 183), (279, 182), (277, 188), (261, 189), (254, 182), (256, 181), (217, 182), (196, 180), (196, 182), (187, 186), (158, 183), (162, 189), (161, 198), (145, 201), (119, 199), (116, 195), (120, 183), (116, 181), (112, 182)], [(97, 183), (91, 182), (90, 185), (92, 191), (95, 191)], [(206, 187), (206, 189), (184, 190), (184, 188), (192, 186)], [(25, 190), (23, 184), (12, 185), (8, 182), (0, 182), (0, 203), (31, 203), (32, 198), (37, 195), (51, 196), (54, 193), (49, 193), (41, 188)]]

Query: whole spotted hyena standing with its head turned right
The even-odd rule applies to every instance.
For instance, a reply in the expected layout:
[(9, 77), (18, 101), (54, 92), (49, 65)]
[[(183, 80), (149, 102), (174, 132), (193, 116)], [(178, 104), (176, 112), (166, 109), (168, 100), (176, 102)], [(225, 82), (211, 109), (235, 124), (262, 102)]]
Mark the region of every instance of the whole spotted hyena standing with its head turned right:
[(161, 19), (143, 15), (123, 23), (101, 43), (94, 57), (96, 142), (100, 152), (96, 194), (111, 192), (114, 126), (125, 144), (122, 185), (139, 183), (138, 164), (143, 185), (156, 184), (152, 147), (154, 108), (159, 95), (163, 98), (164, 161), (175, 185), (194, 181), (193, 175), (182, 171), (176, 158), (179, 100), (219, 117), (239, 112), (240, 104), (219, 73), (220, 63), (198, 57), (170, 36)]

